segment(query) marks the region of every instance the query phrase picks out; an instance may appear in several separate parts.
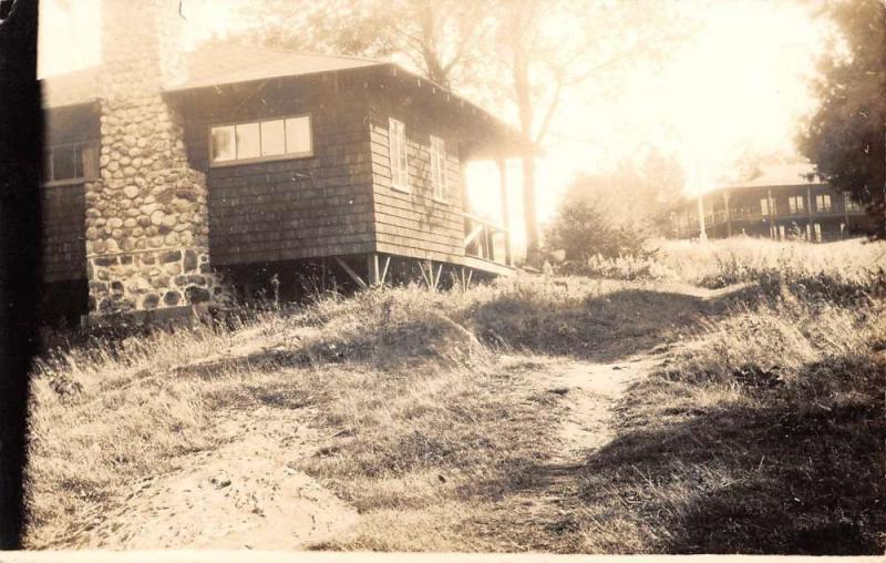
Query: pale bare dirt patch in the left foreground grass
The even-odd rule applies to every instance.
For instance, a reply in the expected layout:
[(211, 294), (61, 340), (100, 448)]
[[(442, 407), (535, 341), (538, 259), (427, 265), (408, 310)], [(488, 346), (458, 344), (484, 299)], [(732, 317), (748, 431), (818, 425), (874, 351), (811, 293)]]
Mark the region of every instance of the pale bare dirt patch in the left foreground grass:
[(303, 423), (308, 414), (259, 408), (220, 423), (224, 446), (133, 483), (119, 508), (76, 534), (74, 546), (297, 550), (340, 536), (357, 512), (292, 469), (321, 442)]

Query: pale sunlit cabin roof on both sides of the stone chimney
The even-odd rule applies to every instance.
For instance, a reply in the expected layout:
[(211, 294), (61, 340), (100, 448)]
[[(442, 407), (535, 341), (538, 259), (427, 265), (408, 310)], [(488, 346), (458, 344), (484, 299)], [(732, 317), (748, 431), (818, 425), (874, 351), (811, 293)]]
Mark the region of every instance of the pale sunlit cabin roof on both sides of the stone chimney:
[[(382, 61), (329, 54), (299, 53), (233, 43), (208, 43), (186, 54), (187, 81), (169, 90), (234, 84), (281, 76), (296, 76), (361, 66)], [(97, 66), (43, 79), (43, 105), (58, 108), (93, 102)]]

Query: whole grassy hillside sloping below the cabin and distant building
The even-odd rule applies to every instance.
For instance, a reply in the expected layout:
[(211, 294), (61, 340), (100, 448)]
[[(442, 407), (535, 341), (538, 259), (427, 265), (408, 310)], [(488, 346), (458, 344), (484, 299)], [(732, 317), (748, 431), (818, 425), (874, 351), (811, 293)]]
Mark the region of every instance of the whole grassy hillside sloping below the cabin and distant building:
[[(885, 250), (668, 243), (595, 278), (322, 295), (59, 348), (34, 377), (29, 544), (131, 545), (144, 483), (239, 444), (354, 512), (302, 546), (880, 553)], [(563, 383), (601, 366), (642, 377)], [(564, 457), (594, 409), (606, 440)]]

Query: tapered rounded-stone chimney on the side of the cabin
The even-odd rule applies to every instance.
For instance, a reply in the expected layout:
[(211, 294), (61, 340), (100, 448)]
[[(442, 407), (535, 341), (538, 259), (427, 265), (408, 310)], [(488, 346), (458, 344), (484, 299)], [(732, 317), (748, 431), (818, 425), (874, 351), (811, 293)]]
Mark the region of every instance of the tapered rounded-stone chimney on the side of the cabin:
[(99, 178), (86, 184), (90, 314), (210, 301), (206, 177), (162, 95), (186, 78), (177, 0), (103, 0)]

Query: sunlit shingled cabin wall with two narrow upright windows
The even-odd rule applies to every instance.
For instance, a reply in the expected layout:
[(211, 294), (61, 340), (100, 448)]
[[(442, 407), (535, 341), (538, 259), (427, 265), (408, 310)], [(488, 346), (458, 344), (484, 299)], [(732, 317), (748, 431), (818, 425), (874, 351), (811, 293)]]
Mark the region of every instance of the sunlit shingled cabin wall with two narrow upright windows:
[[(370, 113), (372, 180), (378, 252), (461, 264), (464, 217), (459, 137), (445, 120), (420, 108), (391, 104), (377, 95)], [(391, 186), (389, 117), (405, 124), (410, 191)], [(433, 197), (430, 136), (446, 151), (446, 201)]]

